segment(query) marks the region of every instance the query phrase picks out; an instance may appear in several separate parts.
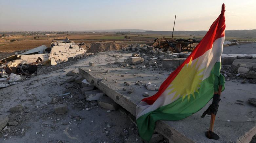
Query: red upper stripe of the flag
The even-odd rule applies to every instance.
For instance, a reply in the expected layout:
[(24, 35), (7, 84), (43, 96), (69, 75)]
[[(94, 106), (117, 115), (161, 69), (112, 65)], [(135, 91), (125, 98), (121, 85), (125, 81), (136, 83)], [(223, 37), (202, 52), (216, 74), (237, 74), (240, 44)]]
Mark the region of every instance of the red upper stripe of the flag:
[(170, 85), (172, 80), (178, 75), (182, 67), (189, 63), (189, 60), (192, 60), (202, 56), (207, 50), (210, 50), (212, 48), (213, 42), (221, 37), (225, 36), (225, 5), (222, 5), (222, 10), (220, 16), (214, 21), (207, 32), (207, 34), (204, 36), (204, 38), (201, 40), (201, 42), (196, 46), (196, 48), (193, 50), (193, 52), (189, 55), (189, 57), (174, 71), (172, 72), (168, 78), (161, 84), (159, 91), (154, 94), (151, 97), (144, 98), (142, 101), (145, 101), (148, 103), (148, 105), (152, 105), (157, 98), (166, 90), (166, 88)]

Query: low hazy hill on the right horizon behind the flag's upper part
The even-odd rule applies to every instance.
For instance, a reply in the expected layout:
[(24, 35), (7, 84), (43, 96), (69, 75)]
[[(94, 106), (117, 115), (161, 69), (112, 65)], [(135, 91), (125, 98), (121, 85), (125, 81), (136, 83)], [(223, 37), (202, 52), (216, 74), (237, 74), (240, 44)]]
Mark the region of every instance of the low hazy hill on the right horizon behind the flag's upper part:
[[(144, 34), (165, 34), (171, 35), (172, 31), (145, 31)], [(207, 31), (174, 31), (174, 35), (206, 35)], [(239, 37), (246, 38), (252, 37), (256, 38), (256, 29), (253, 30), (226, 30), (225, 36), (227, 37)]]

